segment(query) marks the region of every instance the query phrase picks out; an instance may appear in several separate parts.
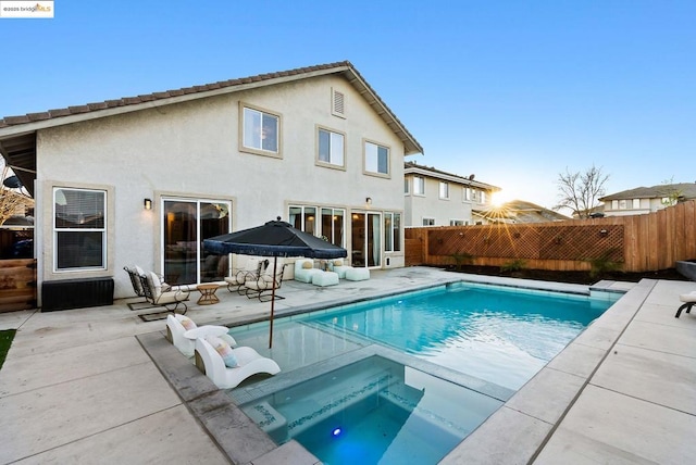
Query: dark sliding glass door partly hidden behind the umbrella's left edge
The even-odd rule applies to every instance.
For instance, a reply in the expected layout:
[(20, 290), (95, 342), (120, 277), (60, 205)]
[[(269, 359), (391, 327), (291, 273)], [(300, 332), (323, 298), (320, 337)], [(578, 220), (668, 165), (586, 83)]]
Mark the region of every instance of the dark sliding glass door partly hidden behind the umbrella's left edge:
[(167, 284), (210, 282), (227, 276), (229, 257), (206, 253), (203, 239), (231, 231), (231, 208), (226, 201), (162, 201), (162, 269)]

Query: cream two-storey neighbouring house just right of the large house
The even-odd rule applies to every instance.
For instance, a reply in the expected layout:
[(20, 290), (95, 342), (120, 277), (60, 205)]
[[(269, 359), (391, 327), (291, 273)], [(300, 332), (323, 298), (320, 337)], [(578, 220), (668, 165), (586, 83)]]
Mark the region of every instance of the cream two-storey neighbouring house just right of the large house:
[(463, 226), (480, 224), (475, 211), (486, 210), (499, 187), (434, 167), (406, 162), (403, 166), (405, 225)]

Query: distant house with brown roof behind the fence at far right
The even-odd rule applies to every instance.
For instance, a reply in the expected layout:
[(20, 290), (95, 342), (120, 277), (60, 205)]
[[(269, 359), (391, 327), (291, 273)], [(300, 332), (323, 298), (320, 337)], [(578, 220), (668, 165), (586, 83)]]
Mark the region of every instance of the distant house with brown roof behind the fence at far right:
[(605, 196), (605, 216), (641, 215), (656, 212), (684, 200), (696, 199), (696, 184), (662, 184), (652, 187), (638, 187)]

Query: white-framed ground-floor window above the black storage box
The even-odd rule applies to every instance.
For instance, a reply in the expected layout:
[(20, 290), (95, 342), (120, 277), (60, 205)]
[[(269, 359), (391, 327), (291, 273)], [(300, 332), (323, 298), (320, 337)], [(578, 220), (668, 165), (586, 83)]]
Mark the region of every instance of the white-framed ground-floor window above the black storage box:
[(107, 191), (53, 189), (54, 271), (107, 268)]

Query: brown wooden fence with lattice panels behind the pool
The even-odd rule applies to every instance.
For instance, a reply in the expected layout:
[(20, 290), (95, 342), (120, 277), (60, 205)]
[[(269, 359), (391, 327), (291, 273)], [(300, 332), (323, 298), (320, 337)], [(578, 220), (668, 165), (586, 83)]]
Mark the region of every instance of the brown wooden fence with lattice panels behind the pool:
[(592, 260), (624, 272), (673, 268), (696, 259), (696, 201), (645, 215), (520, 225), (442, 226), (406, 229), (406, 265), (483, 266), (522, 261), (524, 267), (587, 271)]

